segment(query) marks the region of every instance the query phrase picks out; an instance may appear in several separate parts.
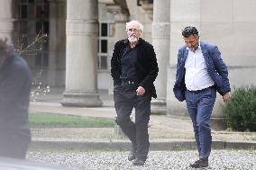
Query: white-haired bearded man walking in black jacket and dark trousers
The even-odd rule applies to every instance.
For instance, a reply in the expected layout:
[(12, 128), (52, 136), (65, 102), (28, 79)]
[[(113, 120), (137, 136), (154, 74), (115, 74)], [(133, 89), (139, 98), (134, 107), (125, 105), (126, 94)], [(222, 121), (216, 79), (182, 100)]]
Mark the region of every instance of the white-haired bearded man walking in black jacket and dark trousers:
[[(132, 141), (129, 161), (143, 166), (149, 152), (148, 123), (151, 115), (151, 97), (157, 94), (153, 82), (158, 76), (158, 63), (153, 46), (142, 40), (142, 23), (126, 23), (128, 39), (114, 45), (111, 76), (114, 79), (114, 108), (116, 123)], [(130, 115), (135, 108), (135, 122)]]

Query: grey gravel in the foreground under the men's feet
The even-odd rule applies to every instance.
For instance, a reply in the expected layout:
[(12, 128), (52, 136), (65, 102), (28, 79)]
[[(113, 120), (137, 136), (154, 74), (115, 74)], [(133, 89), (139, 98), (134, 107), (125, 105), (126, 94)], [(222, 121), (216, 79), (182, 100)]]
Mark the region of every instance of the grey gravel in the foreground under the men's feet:
[[(132, 166), (128, 152), (118, 151), (30, 151), (27, 159), (46, 164), (89, 170), (181, 170), (192, 169), (188, 165), (197, 158), (197, 151), (151, 151), (145, 166)], [(214, 150), (209, 167), (218, 170), (256, 170), (256, 150)]]

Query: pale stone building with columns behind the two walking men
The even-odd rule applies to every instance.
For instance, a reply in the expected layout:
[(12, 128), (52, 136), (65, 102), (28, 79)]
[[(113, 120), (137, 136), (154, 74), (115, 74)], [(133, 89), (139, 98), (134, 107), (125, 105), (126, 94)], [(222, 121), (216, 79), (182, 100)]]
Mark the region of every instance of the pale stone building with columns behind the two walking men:
[[(232, 87), (256, 85), (255, 9), (255, 0), (0, 0), (0, 36), (25, 47), (46, 33), (41, 50), (24, 55), (33, 74), (42, 70), (45, 84), (65, 86), (63, 105), (101, 106), (98, 89), (113, 85), (114, 42), (125, 38), (125, 22), (138, 20), (160, 67), (152, 112), (185, 116), (185, 103), (172, 93), (182, 28), (194, 25), (202, 40), (218, 45)], [(215, 118), (223, 104), (218, 96)]]

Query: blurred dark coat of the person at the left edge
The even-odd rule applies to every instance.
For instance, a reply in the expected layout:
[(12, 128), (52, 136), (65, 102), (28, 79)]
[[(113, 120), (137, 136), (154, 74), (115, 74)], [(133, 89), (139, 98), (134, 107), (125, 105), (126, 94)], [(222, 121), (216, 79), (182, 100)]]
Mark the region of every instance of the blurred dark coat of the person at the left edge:
[(0, 67), (0, 138), (30, 140), (28, 122), (32, 76), (25, 60), (15, 54)]

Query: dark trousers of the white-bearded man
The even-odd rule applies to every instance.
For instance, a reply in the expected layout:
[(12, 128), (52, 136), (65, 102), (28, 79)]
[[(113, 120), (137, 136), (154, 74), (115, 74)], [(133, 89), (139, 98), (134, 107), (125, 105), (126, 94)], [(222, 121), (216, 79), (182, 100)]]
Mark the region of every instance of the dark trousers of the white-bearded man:
[[(114, 86), (114, 108), (116, 123), (123, 133), (132, 141), (136, 157), (146, 159), (149, 148), (148, 124), (151, 114), (151, 93), (142, 96), (136, 94), (136, 85)], [(130, 115), (135, 108), (135, 122)]]

